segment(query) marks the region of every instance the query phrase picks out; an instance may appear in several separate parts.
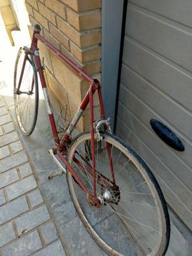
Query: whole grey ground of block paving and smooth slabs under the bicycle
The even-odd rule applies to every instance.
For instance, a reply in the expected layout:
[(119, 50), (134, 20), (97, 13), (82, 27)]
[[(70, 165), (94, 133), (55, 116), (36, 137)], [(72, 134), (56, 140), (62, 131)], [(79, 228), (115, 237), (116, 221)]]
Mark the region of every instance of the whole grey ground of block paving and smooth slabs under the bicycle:
[[(58, 167), (47, 152), (52, 136), (42, 98), (36, 129), (26, 138), (14, 124), (12, 76), (0, 77), (0, 94), (0, 255), (106, 255), (81, 224), (65, 176), (47, 181)], [(170, 215), (166, 256), (191, 256), (191, 232)]]

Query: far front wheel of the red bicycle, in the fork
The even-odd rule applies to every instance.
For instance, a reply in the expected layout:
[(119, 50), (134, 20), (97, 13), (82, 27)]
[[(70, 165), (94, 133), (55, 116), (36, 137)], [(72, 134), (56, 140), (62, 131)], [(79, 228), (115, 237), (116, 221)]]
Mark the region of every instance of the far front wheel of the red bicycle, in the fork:
[(14, 70), (14, 103), (19, 128), (23, 134), (29, 136), (36, 126), (39, 91), (34, 58), (32, 54), (26, 56), (23, 48), (19, 49)]

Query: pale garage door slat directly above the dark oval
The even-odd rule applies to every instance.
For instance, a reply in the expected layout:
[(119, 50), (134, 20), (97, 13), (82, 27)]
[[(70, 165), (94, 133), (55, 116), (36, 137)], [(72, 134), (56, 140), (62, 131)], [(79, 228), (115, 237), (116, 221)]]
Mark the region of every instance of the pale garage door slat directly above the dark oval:
[[(122, 65), (122, 83), (127, 89), (133, 91), (138, 97), (142, 98), (142, 100), (154, 109), (155, 112), (164, 116), (165, 120), (171, 123), (182, 136), (188, 137), (187, 139), (189, 142), (192, 142), (191, 112), (184, 109), (184, 107), (172, 100), (167, 94), (156, 89), (153, 84), (149, 83), (149, 81), (142, 78), (139, 74), (133, 72), (133, 70), (129, 69), (129, 67), (126, 67), (124, 64)], [(167, 109), (169, 109), (169, 111), (167, 111)]]

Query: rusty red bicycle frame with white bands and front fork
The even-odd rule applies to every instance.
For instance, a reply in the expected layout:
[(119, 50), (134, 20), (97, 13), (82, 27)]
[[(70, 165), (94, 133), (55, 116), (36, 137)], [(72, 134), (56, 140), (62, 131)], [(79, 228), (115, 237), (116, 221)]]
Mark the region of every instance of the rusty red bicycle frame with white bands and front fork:
[[(101, 96), (100, 83), (99, 83), (98, 80), (93, 80), (92, 78), (90, 78), (85, 72), (83, 72), (83, 70), (80, 69), (80, 67), (78, 67), (74, 62), (72, 62), (69, 58), (67, 58), (67, 56), (62, 54), (56, 47), (54, 47), (52, 44), (50, 44), (44, 37), (42, 37), (39, 34), (40, 31), (41, 31), (40, 26), (35, 25), (34, 26), (34, 33), (33, 33), (33, 36), (32, 36), (31, 47), (30, 47), (29, 51), (26, 51), (25, 59), (23, 61), (23, 67), (22, 67), (22, 70), (21, 70), (19, 85), (21, 84), (21, 80), (23, 78), (23, 72), (24, 72), (24, 69), (25, 69), (25, 63), (26, 63), (27, 56), (28, 56), (28, 54), (32, 53), (32, 54), (34, 54), (34, 59), (35, 59), (35, 63), (36, 63), (37, 72), (39, 73), (39, 79), (41, 81), (41, 86), (42, 86), (42, 89), (43, 89), (45, 103), (47, 105), (48, 118), (49, 118), (49, 121), (50, 121), (50, 126), (52, 128), (52, 134), (53, 134), (54, 142), (56, 144), (56, 149), (54, 150), (54, 154), (57, 154), (59, 156), (59, 158), (61, 158), (62, 162), (65, 164), (67, 169), (70, 171), (72, 176), (74, 176), (74, 178), (76, 179), (78, 184), (81, 186), (81, 188), (85, 191), (85, 193), (87, 194), (88, 197), (91, 196), (89, 194), (89, 191), (86, 189), (85, 186), (83, 186), (80, 178), (78, 177), (78, 175), (76, 175), (76, 173), (74, 172), (72, 167), (70, 167), (69, 162), (65, 159), (65, 157), (63, 155), (65, 155), (65, 150), (66, 150), (65, 145), (67, 144), (67, 142), (69, 142), (70, 134), (72, 133), (72, 131), (76, 127), (76, 124), (78, 123), (78, 121), (80, 120), (80, 118), (83, 114), (83, 111), (85, 111), (85, 108), (90, 103), (93, 199), (94, 199), (94, 205), (97, 206), (98, 205), (98, 200), (96, 198), (96, 167), (95, 167), (95, 155), (94, 155), (93, 94), (94, 94), (95, 91), (98, 91), (101, 118), (105, 119), (105, 112), (104, 112), (104, 107), (103, 107), (103, 99), (102, 99), (102, 96)], [(39, 49), (37, 48), (37, 41), (38, 40), (41, 41), (41, 43), (43, 43), (51, 52), (56, 54), (56, 56), (58, 56), (58, 58), (60, 58), (72, 70), (74, 70), (74, 72), (76, 72), (84, 80), (86, 80), (90, 83), (89, 91), (85, 95), (85, 98), (83, 99), (83, 101), (80, 105), (80, 108), (76, 112), (74, 118), (72, 119), (72, 122), (69, 125), (69, 128), (67, 129), (67, 132), (64, 134), (63, 138), (61, 138), (61, 140), (59, 140), (58, 131), (57, 131), (57, 128), (56, 128), (56, 122), (54, 120), (54, 115), (53, 115), (52, 109), (50, 107), (50, 100), (48, 98), (47, 85), (46, 85), (46, 81), (45, 81), (45, 76), (43, 74), (44, 70), (43, 70), (43, 67), (41, 65), (41, 59), (39, 58)], [(108, 152), (109, 158), (111, 158), (110, 157), (111, 156), (110, 148), (109, 148), (108, 144), (107, 144), (107, 152)], [(110, 162), (110, 165), (111, 165), (112, 183), (115, 183), (114, 182), (114, 173), (113, 173), (113, 168), (112, 168), (112, 160), (110, 159), (109, 162)]]

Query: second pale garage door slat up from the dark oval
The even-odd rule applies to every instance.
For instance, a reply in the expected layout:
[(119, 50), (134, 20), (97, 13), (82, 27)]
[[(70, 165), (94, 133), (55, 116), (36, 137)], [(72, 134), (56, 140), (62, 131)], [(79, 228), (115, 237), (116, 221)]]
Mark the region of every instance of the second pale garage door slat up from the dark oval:
[(192, 111), (191, 73), (175, 67), (174, 63), (127, 37), (123, 49), (123, 63)]

